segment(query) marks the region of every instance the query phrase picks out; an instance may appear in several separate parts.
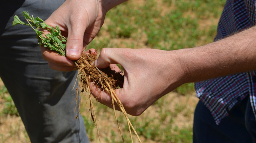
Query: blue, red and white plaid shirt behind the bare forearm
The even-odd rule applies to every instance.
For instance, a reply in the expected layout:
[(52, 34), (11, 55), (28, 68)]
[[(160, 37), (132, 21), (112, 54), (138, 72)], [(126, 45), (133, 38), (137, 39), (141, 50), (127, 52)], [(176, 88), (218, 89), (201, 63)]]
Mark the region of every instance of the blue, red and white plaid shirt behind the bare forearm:
[[(255, 25), (256, 0), (227, 0), (215, 41)], [(236, 104), (250, 96), (256, 118), (256, 71), (237, 73), (195, 83), (196, 96), (211, 111), (216, 124)]]

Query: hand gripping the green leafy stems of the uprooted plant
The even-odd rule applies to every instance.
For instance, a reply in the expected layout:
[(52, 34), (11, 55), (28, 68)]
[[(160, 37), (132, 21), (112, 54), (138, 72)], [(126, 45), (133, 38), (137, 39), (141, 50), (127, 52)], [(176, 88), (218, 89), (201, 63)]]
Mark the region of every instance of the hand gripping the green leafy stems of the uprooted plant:
[[(81, 53), (92, 39), (98, 34), (103, 25), (106, 10), (100, 0), (67, 0), (45, 23), (53, 27), (59, 26), (62, 35), (68, 37), (66, 43), (66, 57), (41, 47), (43, 58), (54, 70), (72, 71), (75, 69), (74, 60), (80, 58)], [(44, 30), (49, 33), (48, 30)]]

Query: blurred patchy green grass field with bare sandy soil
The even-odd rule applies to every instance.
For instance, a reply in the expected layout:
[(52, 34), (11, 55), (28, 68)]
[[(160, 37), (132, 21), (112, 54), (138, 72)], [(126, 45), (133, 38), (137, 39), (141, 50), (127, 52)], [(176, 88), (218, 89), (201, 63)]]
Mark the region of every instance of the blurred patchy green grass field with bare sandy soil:
[[(154, 48), (176, 50), (213, 41), (224, 0), (130, 0), (107, 13), (105, 24), (88, 48)], [(99, 49), (100, 50), (100, 49)], [(83, 98), (81, 114), (92, 143), (98, 142)], [(141, 116), (129, 116), (143, 142), (192, 142), (193, 113), (198, 99), (194, 84), (178, 87), (160, 98)], [(97, 102), (94, 105), (102, 142), (122, 142), (114, 113)], [(131, 142), (125, 118), (118, 112), (126, 142)], [(136, 138), (134, 137), (134, 142)], [(0, 82), (0, 143), (30, 142), (7, 89)]]

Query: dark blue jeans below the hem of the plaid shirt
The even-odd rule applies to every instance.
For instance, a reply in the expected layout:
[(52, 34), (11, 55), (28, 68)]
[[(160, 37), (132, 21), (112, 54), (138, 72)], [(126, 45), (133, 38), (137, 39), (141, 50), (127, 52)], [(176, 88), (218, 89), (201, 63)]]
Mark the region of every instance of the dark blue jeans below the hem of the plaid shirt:
[(194, 116), (194, 143), (255, 143), (256, 121), (247, 96), (228, 117), (215, 124), (209, 109), (199, 101)]

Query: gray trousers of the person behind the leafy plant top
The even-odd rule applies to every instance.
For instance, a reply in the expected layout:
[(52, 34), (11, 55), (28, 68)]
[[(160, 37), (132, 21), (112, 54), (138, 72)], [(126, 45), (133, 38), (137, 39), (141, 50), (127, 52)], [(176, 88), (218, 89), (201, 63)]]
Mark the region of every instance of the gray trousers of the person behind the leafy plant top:
[[(81, 115), (75, 119), (77, 72), (52, 70), (42, 58), (29, 26), (12, 26), (22, 11), (47, 19), (64, 0), (0, 2), (0, 77), (17, 107), (32, 143), (89, 142)], [(77, 85), (77, 84), (76, 84)]]

